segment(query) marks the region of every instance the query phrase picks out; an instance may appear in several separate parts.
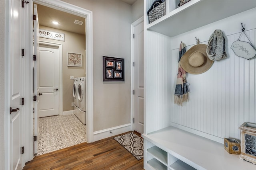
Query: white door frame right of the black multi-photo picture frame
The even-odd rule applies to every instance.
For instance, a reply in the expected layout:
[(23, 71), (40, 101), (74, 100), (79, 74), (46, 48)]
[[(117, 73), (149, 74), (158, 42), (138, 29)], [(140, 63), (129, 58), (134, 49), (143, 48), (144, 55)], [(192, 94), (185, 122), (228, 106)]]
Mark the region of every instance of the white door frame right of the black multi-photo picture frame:
[[(143, 16), (141, 18), (139, 18), (138, 20), (134, 21), (131, 24), (131, 127), (132, 127), (132, 131), (134, 131), (134, 123), (133, 123), (133, 118), (134, 118), (134, 94), (133, 94), (133, 90), (134, 90), (134, 66), (133, 66), (133, 62), (134, 62), (134, 27), (136, 25), (138, 25), (139, 23), (143, 22), (144, 18)], [(144, 114), (145, 116), (145, 114)]]

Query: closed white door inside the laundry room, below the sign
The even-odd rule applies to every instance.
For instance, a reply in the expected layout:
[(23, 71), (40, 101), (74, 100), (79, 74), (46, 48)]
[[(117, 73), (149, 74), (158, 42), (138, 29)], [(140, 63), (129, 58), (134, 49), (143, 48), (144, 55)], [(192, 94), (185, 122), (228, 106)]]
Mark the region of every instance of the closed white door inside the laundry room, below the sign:
[(59, 49), (39, 45), (38, 117), (59, 115)]

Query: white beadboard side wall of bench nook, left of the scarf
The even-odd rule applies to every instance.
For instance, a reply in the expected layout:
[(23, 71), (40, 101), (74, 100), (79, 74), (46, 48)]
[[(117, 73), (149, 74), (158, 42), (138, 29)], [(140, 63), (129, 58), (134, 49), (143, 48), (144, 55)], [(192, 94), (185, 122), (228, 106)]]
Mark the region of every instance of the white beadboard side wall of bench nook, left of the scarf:
[[(170, 126), (170, 103), (172, 74), (170, 71), (170, 37), (146, 31), (144, 36), (148, 50), (144, 58), (145, 81), (144, 88), (146, 107), (146, 132)], [(150, 122), (150, 123), (147, 123)]]

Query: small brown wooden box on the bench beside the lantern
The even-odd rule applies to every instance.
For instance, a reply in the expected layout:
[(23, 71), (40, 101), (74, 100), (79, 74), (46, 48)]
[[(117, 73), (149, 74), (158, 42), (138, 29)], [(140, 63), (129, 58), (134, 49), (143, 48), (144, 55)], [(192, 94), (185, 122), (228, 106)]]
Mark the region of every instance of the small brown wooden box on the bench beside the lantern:
[(226, 149), (226, 151), (228, 151), (228, 153), (241, 153), (240, 143), (236, 141), (236, 139), (224, 138), (224, 148)]

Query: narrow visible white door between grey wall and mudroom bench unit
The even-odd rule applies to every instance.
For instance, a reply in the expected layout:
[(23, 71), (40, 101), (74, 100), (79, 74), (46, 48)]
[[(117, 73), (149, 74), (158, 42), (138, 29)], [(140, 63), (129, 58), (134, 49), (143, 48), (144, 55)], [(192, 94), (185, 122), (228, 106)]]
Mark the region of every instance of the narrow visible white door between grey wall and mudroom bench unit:
[(134, 131), (144, 131), (143, 21), (134, 26)]

